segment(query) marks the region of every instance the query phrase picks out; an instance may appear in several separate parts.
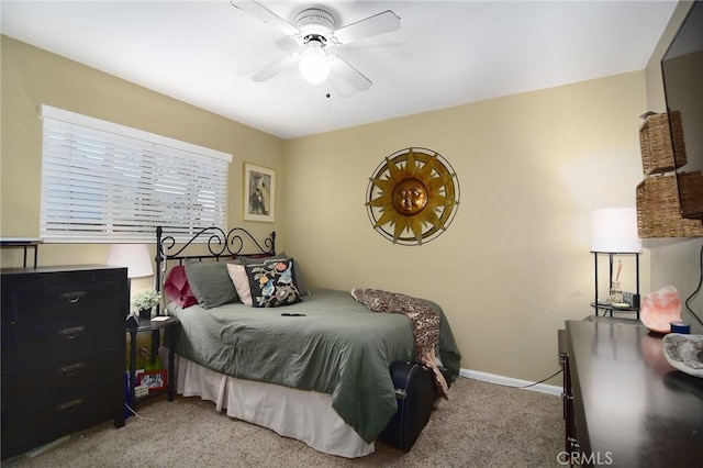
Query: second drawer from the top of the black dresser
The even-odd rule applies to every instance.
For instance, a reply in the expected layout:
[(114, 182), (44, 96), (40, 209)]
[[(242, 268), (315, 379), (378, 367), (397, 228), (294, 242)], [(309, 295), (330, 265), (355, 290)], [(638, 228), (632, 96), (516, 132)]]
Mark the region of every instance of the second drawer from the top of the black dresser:
[(70, 317), (32, 326), (2, 326), (2, 366), (18, 369), (34, 364), (60, 364), (107, 348), (124, 348), (122, 315)]

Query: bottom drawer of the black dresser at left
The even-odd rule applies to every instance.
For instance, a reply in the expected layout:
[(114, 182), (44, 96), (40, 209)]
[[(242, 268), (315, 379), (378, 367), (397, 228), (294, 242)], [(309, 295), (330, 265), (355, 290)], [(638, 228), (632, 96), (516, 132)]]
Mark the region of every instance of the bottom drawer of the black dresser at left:
[(124, 386), (111, 385), (85, 389), (69, 399), (47, 398), (31, 405), (9, 408), (3, 404), (3, 457), (111, 419), (115, 425), (124, 425), (123, 403)]

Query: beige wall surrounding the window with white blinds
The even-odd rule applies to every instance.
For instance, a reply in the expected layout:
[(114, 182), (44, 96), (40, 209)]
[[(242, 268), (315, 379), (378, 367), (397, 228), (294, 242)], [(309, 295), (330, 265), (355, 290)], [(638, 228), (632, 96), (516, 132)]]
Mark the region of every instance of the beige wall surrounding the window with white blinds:
[[(284, 246), (283, 207), (276, 223), (242, 223), (243, 161), (281, 171), (283, 142), (232, 120), (129, 81), (2, 36), (2, 237), (37, 237), (42, 168), (41, 104), (166, 135), (233, 155), (230, 165), (230, 225), (264, 236), (276, 230)], [(278, 180), (281, 193), (284, 180)], [(107, 245), (45, 244), (41, 265), (102, 264)], [(32, 256), (30, 256), (31, 258)], [(2, 266), (19, 266), (21, 250), (3, 249)]]

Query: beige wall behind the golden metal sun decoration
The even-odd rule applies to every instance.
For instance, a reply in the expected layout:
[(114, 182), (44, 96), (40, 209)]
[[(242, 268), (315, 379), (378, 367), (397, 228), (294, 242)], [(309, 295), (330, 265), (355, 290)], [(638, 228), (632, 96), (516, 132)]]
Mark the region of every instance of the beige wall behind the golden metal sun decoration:
[[(558, 368), (557, 328), (592, 313), (591, 210), (634, 205), (644, 110), (639, 71), (288, 141), (287, 250), (316, 286), (438, 302), (462, 367), (538, 380)], [(421, 247), (392, 245), (364, 207), (378, 164), (409, 146), (461, 186), (454, 223)]]

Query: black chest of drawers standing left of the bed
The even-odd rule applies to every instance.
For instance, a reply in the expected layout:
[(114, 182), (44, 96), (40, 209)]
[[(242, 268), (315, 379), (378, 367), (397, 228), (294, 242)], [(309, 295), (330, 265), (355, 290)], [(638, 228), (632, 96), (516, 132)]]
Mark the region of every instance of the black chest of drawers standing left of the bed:
[(126, 268), (1, 270), (2, 459), (124, 426)]

